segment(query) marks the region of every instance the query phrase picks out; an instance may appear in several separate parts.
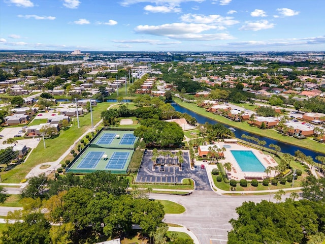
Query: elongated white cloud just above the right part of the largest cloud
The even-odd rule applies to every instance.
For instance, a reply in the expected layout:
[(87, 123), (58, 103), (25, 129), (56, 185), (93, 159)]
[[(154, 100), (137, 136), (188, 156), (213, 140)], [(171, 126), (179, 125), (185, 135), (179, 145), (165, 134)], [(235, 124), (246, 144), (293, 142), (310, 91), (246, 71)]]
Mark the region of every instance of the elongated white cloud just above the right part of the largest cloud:
[(234, 20), (234, 17), (222, 17), (217, 14), (213, 14), (213, 15), (184, 14), (181, 16), (181, 20), (189, 23), (217, 24), (220, 26), (234, 25), (239, 23), (239, 21)]

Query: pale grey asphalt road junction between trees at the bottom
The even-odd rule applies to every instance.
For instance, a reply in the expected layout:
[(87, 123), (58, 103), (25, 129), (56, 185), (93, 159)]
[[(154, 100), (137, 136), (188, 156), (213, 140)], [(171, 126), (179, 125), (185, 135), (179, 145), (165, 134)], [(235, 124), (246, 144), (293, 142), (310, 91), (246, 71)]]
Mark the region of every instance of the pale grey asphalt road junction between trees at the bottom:
[(228, 231), (232, 229), (229, 221), (238, 217), (236, 207), (244, 201), (274, 201), (270, 196), (221, 196), (212, 191), (194, 191), (188, 196), (150, 194), (150, 198), (183, 205), (186, 208), (183, 214), (167, 214), (165, 222), (186, 227), (196, 234), (201, 244), (226, 244)]

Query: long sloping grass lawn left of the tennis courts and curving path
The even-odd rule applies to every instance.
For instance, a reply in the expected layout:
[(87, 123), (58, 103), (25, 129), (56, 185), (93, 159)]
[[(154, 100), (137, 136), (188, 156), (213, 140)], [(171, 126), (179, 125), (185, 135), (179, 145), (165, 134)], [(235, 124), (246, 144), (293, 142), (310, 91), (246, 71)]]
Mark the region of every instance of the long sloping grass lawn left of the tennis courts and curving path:
[[(101, 112), (106, 110), (110, 105), (111, 103), (98, 103), (98, 106), (93, 108), (92, 115), (94, 125), (100, 121)], [(58, 137), (46, 139), (46, 148), (44, 148), (43, 143), (39, 143), (38, 146), (32, 150), (26, 162), (17, 165), (8, 172), (4, 172), (1, 175), (3, 182), (19, 183), (32, 167), (57, 160), (83, 133), (91, 128), (90, 113), (79, 117), (80, 128), (78, 128), (76, 121), (77, 119), (75, 119), (75, 125), (66, 130), (62, 130)]]

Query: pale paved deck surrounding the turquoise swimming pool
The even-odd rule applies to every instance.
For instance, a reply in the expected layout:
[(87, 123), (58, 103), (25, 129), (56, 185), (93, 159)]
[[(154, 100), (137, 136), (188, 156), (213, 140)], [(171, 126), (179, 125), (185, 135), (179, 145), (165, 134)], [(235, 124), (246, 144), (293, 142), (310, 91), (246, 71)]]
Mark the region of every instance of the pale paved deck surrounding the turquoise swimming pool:
[[(230, 148), (226, 148), (226, 151), (223, 152), (224, 159), (218, 160), (222, 164), (227, 163), (227, 162), (232, 164), (232, 169), (228, 173), (229, 179), (250, 180), (250, 179), (255, 178), (258, 180), (262, 180), (262, 179), (266, 178), (266, 176), (267, 176), (265, 172), (253, 172), (253, 171), (252, 172), (243, 172), (230, 150), (243, 150), (243, 151), (250, 150), (250, 151), (252, 151), (253, 154), (256, 156), (256, 158), (259, 160), (259, 162), (261, 162), (265, 168), (267, 168), (269, 166), (274, 167), (274, 166), (278, 165), (277, 162), (272, 158), (272, 156), (264, 154), (263, 151), (261, 151), (261, 150), (257, 150), (255, 148), (251, 148), (249, 146), (245, 146), (245, 145), (241, 145), (241, 144), (237, 144), (237, 143), (215, 142), (215, 144), (220, 145), (221, 148), (224, 145), (231, 146)], [(212, 171), (213, 168), (216, 168), (216, 165), (206, 163), (206, 167), (207, 167), (207, 170)], [(271, 170), (271, 176), (272, 175), (274, 175), (274, 170)]]

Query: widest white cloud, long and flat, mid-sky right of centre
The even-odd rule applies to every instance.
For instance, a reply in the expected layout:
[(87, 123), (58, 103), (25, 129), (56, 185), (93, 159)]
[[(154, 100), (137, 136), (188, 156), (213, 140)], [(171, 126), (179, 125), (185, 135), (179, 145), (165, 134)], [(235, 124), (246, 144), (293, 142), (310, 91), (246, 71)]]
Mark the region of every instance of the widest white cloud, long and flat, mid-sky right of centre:
[(164, 36), (177, 40), (189, 41), (210, 41), (234, 39), (229, 34), (201, 34), (218, 26), (194, 23), (172, 23), (163, 25), (138, 25), (135, 28), (137, 33), (149, 34), (154, 36)]

